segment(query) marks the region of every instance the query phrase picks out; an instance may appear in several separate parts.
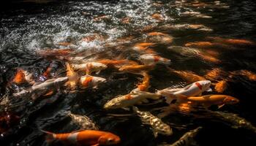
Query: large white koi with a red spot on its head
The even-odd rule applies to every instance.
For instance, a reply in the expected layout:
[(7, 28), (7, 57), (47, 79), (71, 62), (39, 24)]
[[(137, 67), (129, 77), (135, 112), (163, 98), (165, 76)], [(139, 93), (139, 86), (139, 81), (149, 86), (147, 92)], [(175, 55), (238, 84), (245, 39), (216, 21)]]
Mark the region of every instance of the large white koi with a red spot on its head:
[(189, 96), (200, 96), (204, 91), (212, 91), (210, 85), (211, 81), (200, 80), (184, 88), (165, 88), (161, 91), (157, 91), (157, 93), (165, 96), (167, 104), (170, 104), (173, 99), (182, 101), (186, 100)]

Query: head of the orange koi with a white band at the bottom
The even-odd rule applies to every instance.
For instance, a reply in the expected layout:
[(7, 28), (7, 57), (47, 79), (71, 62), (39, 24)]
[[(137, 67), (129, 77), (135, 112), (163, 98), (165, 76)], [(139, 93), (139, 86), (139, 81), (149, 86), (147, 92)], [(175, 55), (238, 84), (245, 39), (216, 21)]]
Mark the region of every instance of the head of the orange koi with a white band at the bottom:
[(115, 134), (108, 133), (99, 137), (99, 145), (116, 145), (119, 142), (121, 142), (121, 139)]

